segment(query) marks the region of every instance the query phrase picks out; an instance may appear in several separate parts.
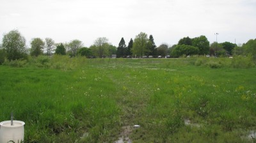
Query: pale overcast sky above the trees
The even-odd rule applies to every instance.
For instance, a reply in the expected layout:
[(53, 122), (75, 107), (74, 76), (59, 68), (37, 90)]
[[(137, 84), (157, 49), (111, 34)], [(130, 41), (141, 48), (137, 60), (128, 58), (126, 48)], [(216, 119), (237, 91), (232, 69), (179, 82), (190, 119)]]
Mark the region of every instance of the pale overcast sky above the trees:
[[(118, 46), (140, 32), (157, 46), (205, 35), (210, 43), (245, 43), (256, 38), (256, 0), (1, 0), (0, 38), (18, 29), (32, 38), (57, 43), (81, 40), (90, 47), (99, 37)], [(0, 42), (1, 43), (1, 42)]]

